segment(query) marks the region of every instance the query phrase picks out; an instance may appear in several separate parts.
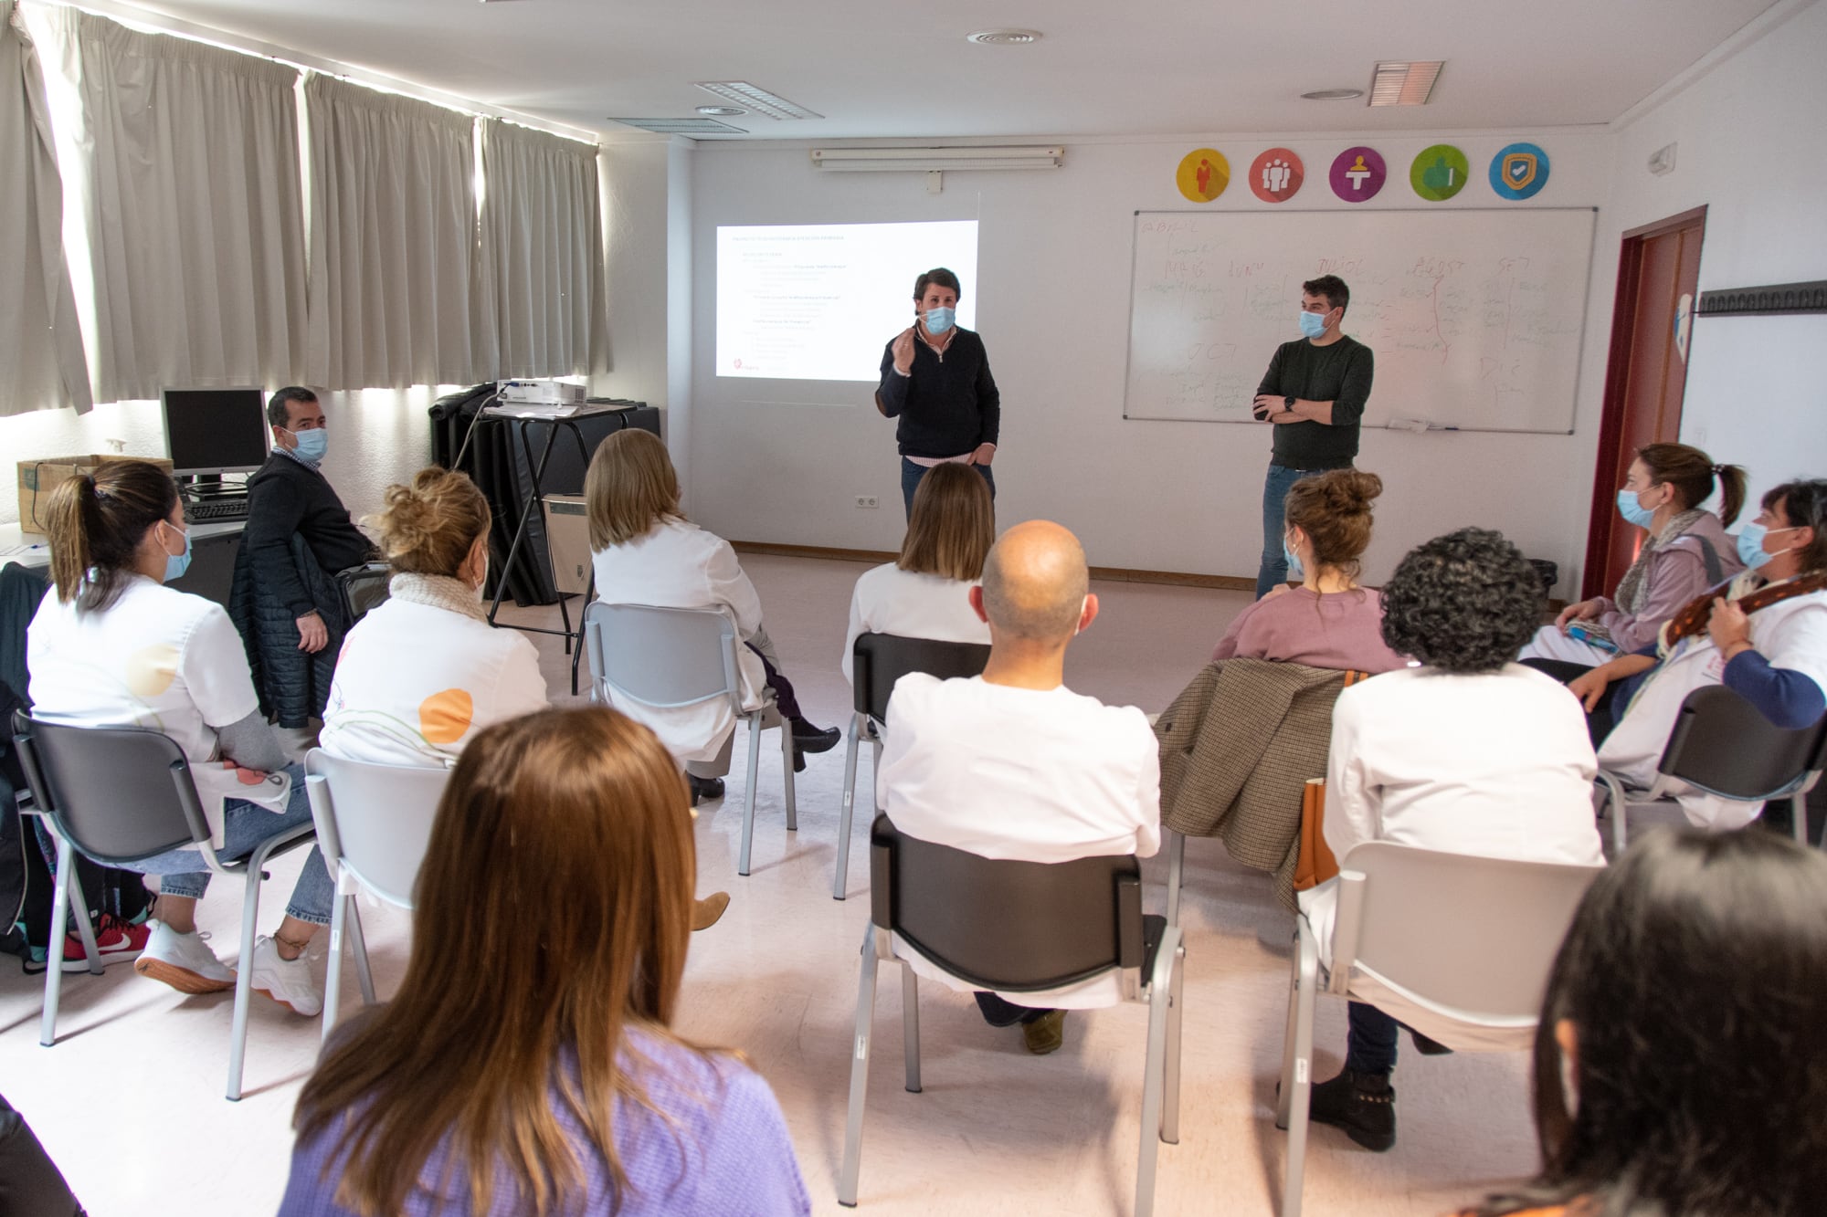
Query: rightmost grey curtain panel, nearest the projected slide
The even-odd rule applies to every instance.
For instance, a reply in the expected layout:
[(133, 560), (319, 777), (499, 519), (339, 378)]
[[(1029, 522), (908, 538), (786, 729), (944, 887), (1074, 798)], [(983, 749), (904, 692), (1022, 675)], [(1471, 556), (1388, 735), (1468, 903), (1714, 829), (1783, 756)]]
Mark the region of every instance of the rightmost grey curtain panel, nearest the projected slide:
[(599, 371), (603, 223), (596, 148), (482, 119), (477, 351), (495, 376)]

